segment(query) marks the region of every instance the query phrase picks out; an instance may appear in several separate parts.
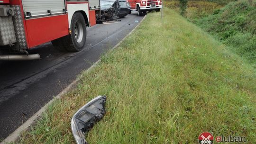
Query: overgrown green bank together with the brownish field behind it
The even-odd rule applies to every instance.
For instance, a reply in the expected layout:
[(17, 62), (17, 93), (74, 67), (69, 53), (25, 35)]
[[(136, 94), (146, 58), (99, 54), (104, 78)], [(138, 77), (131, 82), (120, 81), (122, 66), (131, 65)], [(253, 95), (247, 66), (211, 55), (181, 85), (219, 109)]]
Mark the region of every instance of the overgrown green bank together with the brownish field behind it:
[[(256, 0), (248, 1), (190, 0), (185, 16), (256, 68)], [(178, 0), (166, 4), (179, 11)]]

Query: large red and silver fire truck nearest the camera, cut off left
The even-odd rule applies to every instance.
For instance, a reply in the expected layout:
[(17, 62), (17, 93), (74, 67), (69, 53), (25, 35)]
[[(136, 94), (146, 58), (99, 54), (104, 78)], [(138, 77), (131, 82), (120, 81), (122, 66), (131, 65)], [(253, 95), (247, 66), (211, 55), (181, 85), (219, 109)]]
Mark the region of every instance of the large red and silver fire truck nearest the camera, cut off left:
[(80, 51), (86, 27), (96, 25), (100, 0), (0, 0), (0, 60), (31, 60), (27, 50), (52, 41), (62, 51)]

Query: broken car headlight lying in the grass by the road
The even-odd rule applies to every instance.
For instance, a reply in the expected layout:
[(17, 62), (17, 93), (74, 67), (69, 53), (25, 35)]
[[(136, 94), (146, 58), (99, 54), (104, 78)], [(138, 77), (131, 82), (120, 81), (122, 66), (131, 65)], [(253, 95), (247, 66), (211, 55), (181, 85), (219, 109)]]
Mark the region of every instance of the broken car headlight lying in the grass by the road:
[(80, 108), (72, 117), (71, 129), (76, 144), (88, 144), (85, 135), (105, 114), (106, 96), (98, 96)]

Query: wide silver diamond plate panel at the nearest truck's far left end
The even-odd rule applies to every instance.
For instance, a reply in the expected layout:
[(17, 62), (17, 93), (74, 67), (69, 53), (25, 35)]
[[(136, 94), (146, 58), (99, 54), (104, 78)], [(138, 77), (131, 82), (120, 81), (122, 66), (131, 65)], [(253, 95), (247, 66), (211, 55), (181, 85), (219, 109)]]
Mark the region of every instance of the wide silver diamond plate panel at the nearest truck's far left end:
[[(0, 5), (7, 8), (8, 5)], [(0, 17), (0, 45), (11, 45), (16, 42), (14, 27), (11, 16)]]

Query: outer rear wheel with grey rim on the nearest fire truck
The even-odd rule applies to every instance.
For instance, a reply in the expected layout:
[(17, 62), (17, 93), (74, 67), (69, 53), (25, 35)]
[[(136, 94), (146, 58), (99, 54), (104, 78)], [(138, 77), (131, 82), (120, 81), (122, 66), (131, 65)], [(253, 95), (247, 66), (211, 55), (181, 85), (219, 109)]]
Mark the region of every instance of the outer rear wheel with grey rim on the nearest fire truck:
[(68, 51), (81, 51), (86, 42), (86, 23), (82, 13), (76, 12), (71, 20), (71, 35), (66, 39)]

